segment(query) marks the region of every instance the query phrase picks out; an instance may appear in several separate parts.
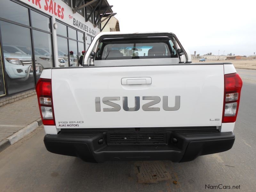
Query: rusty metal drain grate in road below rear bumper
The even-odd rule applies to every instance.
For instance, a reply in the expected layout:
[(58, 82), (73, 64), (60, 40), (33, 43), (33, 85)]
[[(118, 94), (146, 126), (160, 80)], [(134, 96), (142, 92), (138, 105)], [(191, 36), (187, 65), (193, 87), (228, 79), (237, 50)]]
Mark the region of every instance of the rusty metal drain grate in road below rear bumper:
[(138, 183), (157, 183), (158, 181), (171, 179), (164, 163), (161, 161), (146, 161), (136, 165), (138, 169)]

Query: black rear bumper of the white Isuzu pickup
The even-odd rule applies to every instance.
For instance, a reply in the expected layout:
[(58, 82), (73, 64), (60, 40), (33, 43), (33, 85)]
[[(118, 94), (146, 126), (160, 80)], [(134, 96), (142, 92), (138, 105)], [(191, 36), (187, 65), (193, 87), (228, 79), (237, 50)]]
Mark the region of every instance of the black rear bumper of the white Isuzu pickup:
[[(77, 156), (87, 162), (111, 160), (171, 160), (186, 162), (200, 155), (227, 151), (232, 148), (233, 132), (167, 131), (165, 145), (108, 145), (107, 132), (66, 132), (45, 135), (48, 151)], [(104, 143), (99, 144), (103, 139)], [(176, 139), (176, 140), (175, 140)], [(177, 141), (177, 142), (176, 142)]]

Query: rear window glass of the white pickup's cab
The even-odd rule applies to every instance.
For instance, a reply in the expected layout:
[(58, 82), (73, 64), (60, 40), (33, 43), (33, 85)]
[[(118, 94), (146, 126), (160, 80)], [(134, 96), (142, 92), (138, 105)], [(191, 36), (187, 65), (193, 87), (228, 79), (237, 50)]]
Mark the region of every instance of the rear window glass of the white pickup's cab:
[(174, 54), (169, 41), (172, 40), (169, 38), (103, 39), (95, 60), (178, 57)]

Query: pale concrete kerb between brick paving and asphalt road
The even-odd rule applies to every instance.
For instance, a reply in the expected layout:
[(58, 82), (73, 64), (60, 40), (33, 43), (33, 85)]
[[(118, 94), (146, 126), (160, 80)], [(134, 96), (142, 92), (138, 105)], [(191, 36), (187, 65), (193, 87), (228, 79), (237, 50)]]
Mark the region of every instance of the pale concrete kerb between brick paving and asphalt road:
[(3, 151), (5, 148), (9, 147), (10, 145), (13, 145), (20, 139), (27, 136), (29, 133), (34, 131), (37, 127), (42, 125), (42, 119), (39, 118), (33, 123), (27, 125), (26, 127), (22, 128), (20, 131), (12, 134), (10, 137), (6, 138), (5, 140), (0, 142), (0, 152)]

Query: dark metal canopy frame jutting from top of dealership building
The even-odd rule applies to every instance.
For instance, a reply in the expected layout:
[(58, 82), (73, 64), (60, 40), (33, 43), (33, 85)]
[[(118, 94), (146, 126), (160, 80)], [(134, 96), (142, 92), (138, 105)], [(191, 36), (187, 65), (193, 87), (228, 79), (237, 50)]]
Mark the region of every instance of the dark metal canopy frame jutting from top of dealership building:
[[(103, 21), (107, 20), (107, 22), (105, 23), (105, 25), (101, 28), (100, 26), (100, 32), (105, 28), (105, 26), (107, 25), (108, 21), (111, 19), (111, 17), (113, 17), (114, 15), (116, 15), (116, 13), (113, 13), (111, 10), (111, 13), (107, 13), (106, 12), (108, 10), (110, 10), (113, 5), (108, 5), (108, 6), (102, 6), (103, 4), (103, 0), (91, 0), (88, 3), (81, 5), (83, 3), (84, 0), (74, 0), (74, 1), (79, 1), (79, 3), (77, 4), (76, 7), (73, 7), (73, 13), (76, 13), (77, 10), (79, 9), (83, 9), (84, 7), (87, 7), (93, 3), (95, 3), (96, 1), (97, 4), (93, 7), (92, 12), (88, 15), (85, 13), (85, 22), (87, 22), (89, 20), (89, 18), (92, 16), (92, 14), (94, 13), (95, 15), (95, 11), (98, 11), (97, 16), (93, 18), (94, 21), (94, 27), (97, 27), (98, 25), (100, 25)], [(100, 11), (102, 11), (102, 14), (100, 14)], [(101, 20), (104, 17), (103, 20)]]

